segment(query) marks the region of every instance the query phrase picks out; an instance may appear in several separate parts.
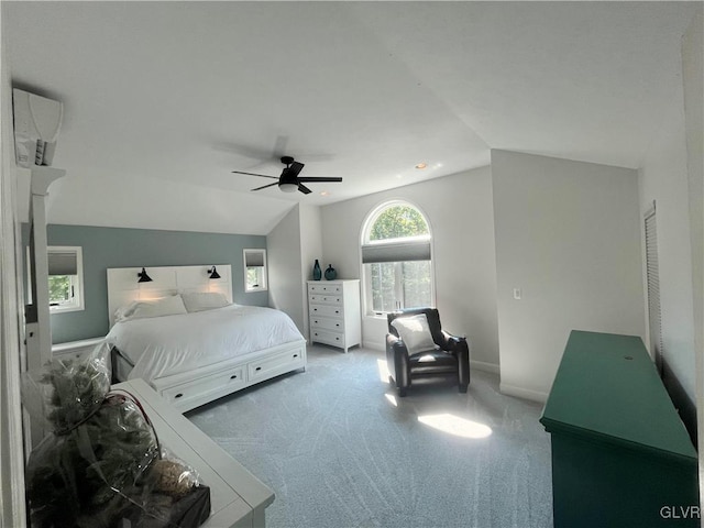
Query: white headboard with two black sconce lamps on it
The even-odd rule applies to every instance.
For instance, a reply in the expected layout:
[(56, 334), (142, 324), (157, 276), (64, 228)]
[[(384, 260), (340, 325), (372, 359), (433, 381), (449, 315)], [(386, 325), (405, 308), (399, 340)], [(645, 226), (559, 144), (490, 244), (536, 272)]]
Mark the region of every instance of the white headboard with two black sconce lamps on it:
[(139, 283), (141, 267), (108, 268), (108, 316), (114, 324), (114, 312), (133, 300), (150, 300), (191, 292), (219, 292), (232, 302), (232, 270), (230, 264), (216, 264), (220, 278), (210, 278), (212, 264), (201, 266), (147, 267), (151, 283)]

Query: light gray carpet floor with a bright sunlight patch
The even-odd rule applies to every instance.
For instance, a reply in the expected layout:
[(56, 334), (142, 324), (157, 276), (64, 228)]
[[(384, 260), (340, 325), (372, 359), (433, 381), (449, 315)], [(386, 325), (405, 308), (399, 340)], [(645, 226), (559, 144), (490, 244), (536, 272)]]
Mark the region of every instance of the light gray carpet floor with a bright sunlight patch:
[(383, 359), (309, 346), (306, 372), (186, 416), (274, 490), (271, 528), (552, 526), (541, 405), (502, 395), (481, 371), (468, 394), (394, 397)]

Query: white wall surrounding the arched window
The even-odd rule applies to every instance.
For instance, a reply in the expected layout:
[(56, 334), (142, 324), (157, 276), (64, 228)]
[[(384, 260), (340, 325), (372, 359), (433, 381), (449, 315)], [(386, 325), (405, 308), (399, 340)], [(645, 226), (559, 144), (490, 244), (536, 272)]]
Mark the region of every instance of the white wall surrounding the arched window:
[[(360, 237), (378, 205), (403, 199), (417, 206), (433, 235), (436, 301), (442, 326), (469, 336), (474, 366), (498, 369), (496, 275), (488, 167), (399, 187), (322, 208), (324, 263), (340, 278), (361, 278)], [(383, 350), (386, 319), (364, 317), (362, 340)]]

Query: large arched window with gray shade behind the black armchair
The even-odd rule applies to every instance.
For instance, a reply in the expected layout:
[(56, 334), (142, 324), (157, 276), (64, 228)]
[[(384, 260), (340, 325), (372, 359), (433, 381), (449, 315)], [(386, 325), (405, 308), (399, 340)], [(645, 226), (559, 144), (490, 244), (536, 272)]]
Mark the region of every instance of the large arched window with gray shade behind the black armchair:
[(370, 213), (362, 233), (367, 314), (433, 306), (430, 241), (428, 221), (408, 202), (386, 202)]

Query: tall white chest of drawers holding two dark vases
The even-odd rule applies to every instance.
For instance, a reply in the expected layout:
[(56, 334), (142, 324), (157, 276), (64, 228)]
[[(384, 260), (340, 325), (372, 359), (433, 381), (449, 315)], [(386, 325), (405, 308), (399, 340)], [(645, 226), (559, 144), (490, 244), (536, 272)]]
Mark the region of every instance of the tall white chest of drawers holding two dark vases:
[(310, 344), (331, 344), (345, 352), (360, 344), (360, 279), (308, 280), (308, 317)]

